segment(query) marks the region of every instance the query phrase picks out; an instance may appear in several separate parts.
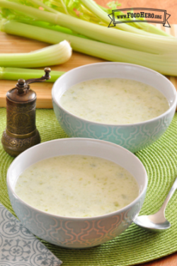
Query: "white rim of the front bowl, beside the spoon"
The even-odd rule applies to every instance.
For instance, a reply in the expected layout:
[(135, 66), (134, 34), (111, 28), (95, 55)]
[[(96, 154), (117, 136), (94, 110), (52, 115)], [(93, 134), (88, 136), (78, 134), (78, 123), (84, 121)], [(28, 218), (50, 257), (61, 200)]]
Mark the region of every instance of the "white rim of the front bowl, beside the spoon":
[[(89, 216), (89, 217), (71, 217), (71, 216), (61, 216), (61, 215), (57, 215), (57, 214), (51, 214), (50, 212), (44, 212), (40, 209), (37, 209), (33, 206), (31, 206), (30, 204), (28, 204), (27, 202), (23, 201), (23, 199), (21, 199), (21, 197), (19, 197), (16, 192), (15, 192), (15, 187), (14, 189), (11, 187), (10, 185), (10, 174), (11, 174), (11, 168), (13, 168), (13, 165), (16, 164), (16, 161), (18, 160), (21, 160), (21, 157), (22, 156), (25, 156), (25, 154), (28, 154), (28, 151), (29, 150), (32, 150), (32, 149), (38, 149), (38, 146), (42, 146), (42, 145), (46, 145), (48, 144), (49, 142), (57, 142), (57, 141), (93, 141), (93, 142), (98, 142), (98, 143), (103, 143), (104, 145), (109, 145), (109, 146), (113, 146), (117, 149), (120, 149), (120, 150), (123, 150), (124, 152), (126, 151), (128, 154), (130, 154), (130, 156), (133, 156), (135, 157), (135, 159), (137, 160), (137, 163), (139, 163), (141, 166), (142, 166), (142, 169), (144, 171), (144, 187), (142, 189), (142, 192), (139, 193), (139, 195), (132, 201), (130, 202), (130, 204), (126, 205), (125, 207), (123, 207), (122, 209), (118, 209), (117, 211), (115, 212), (110, 212), (109, 214), (102, 214), (102, 215), (99, 215), (99, 216)], [(97, 156), (98, 157), (98, 156)], [(27, 156), (28, 158), (28, 156)], [(50, 157), (46, 157), (45, 159), (47, 158), (52, 158), (51, 156)], [(44, 160), (45, 160), (44, 159)], [(107, 160), (107, 159), (106, 159)], [(42, 161), (42, 160), (40, 160)], [(110, 160), (108, 160), (110, 161)], [(32, 165), (32, 164), (31, 164)], [(31, 166), (30, 165), (30, 166)], [(29, 167), (29, 166), (28, 166)], [(42, 142), (40, 144), (37, 144), (35, 146), (32, 146), (30, 147), (29, 149), (23, 151), (21, 154), (19, 154), (14, 160), (13, 162), (11, 163), (11, 165), (9, 166), (8, 168), (8, 171), (7, 171), (7, 174), (6, 174), (6, 184), (7, 184), (7, 187), (8, 187), (8, 190), (11, 190), (11, 194), (13, 195), (13, 197), (16, 197), (16, 199), (18, 199), (22, 204), (26, 205), (27, 207), (30, 207), (31, 209), (33, 209), (35, 212), (40, 212), (41, 214), (45, 214), (45, 215), (49, 215), (49, 216), (52, 216), (52, 217), (55, 217), (56, 219), (68, 219), (68, 220), (79, 220), (79, 221), (84, 221), (86, 219), (89, 219), (89, 220), (92, 220), (92, 219), (105, 219), (105, 218), (108, 218), (109, 216), (114, 216), (114, 215), (118, 215), (118, 214), (121, 214), (122, 212), (127, 212), (128, 209), (130, 209), (133, 205), (137, 204), (137, 202), (141, 199), (142, 195), (146, 195), (146, 192), (147, 192), (147, 184), (148, 184), (148, 176), (147, 176), (147, 171), (144, 167), (144, 165), (142, 164), (142, 162), (139, 160), (139, 158), (137, 158), (137, 156), (135, 156), (135, 154), (132, 154), (131, 151), (128, 151), (127, 149), (123, 148), (122, 146), (119, 146), (118, 144), (114, 144), (112, 142), (109, 142), (109, 141), (104, 141), (104, 140), (101, 140), (101, 139), (89, 139), (89, 138), (64, 138), (64, 139), (53, 139), (53, 140), (50, 140), (50, 141), (45, 141), (45, 142)], [(8, 192), (8, 195), (9, 195), (9, 192)]]

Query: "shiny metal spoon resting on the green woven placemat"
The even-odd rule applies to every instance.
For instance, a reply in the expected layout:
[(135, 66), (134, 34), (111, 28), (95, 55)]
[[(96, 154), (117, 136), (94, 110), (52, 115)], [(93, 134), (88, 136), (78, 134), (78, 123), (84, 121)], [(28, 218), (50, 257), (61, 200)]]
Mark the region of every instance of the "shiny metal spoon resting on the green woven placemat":
[(140, 226), (144, 229), (149, 229), (152, 231), (162, 231), (162, 230), (169, 229), (171, 224), (169, 223), (169, 221), (166, 220), (165, 209), (166, 209), (166, 205), (171, 199), (176, 188), (177, 188), (177, 178), (175, 182), (173, 183), (173, 186), (171, 187), (171, 190), (169, 194), (167, 195), (159, 211), (156, 212), (156, 214), (152, 214), (152, 215), (137, 216), (137, 218), (135, 218), (134, 220), (134, 223), (137, 224), (137, 226)]

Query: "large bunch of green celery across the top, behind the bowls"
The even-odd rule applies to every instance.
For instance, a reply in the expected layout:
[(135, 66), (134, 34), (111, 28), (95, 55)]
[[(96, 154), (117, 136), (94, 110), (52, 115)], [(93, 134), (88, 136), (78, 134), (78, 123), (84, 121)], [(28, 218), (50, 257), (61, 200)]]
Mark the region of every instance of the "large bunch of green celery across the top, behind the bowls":
[(68, 40), (75, 51), (176, 76), (175, 37), (147, 23), (108, 28), (111, 10), (93, 0), (0, 0), (0, 7), (6, 33), (51, 44)]

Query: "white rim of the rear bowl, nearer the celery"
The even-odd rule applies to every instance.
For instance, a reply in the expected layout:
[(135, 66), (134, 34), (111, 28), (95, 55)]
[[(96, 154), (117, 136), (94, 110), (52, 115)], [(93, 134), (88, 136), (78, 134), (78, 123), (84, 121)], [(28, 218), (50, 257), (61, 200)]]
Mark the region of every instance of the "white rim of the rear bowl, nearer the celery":
[[(57, 86), (57, 82), (59, 79), (64, 79), (64, 76), (69, 75), (70, 73), (72, 73), (73, 71), (79, 71), (79, 69), (85, 68), (85, 67), (91, 67), (92, 65), (100, 65), (100, 64), (120, 64), (120, 65), (127, 65), (127, 66), (133, 66), (133, 67), (137, 67), (137, 69), (144, 69), (144, 71), (149, 71), (152, 72), (153, 74), (158, 74), (160, 77), (162, 77), (163, 79), (165, 79), (167, 81), (167, 83), (169, 83), (169, 85), (171, 86), (171, 89), (175, 95), (175, 98), (173, 100), (173, 104), (171, 106), (169, 106), (169, 109), (166, 110), (166, 112), (163, 112), (163, 114), (159, 115), (158, 117), (154, 117), (150, 120), (145, 120), (142, 122), (138, 122), (138, 123), (132, 123), (132, 124), (106, 124), (106, 123), (101, 123), (101, 122), (94, 122), (91, 120), (86, 120), (82, 117), (79, 117), (77, 115), (72, 114), (72, 112), (69, 112), (68, 110), (66, 110), (65, 108), (62, 107), (62, 105), (60, 105), (59, 101), (56, 99), (55, 97), (55, 87)], [(139, 81), (140, 82), (140, 81)], [(60, 96), (61, 98), (62, 96)], [(165, 96), (164, 96), (165, 97)], [(59, 100), (60, 100), (59, 98)], [(165, 97), (166, 98), (166, 97)], [(139, 125), (144, 125), (144, 124), (149, 124), (151, 122), (154, 122), (156, 120), (161, 119), (162, 117), (168, 115), (171, 110), (173, 110), (173, 108), (177, 105), (177, 92), (176, 92), (176, 88), (173, 86), (173, 83), (171, 83), (171, 81), (169, 81), (169, 79), (166, 78), (166, 76), (160, 74), (159, 72), (149, 69), (148, 67), (142, 67), (139, 64), (130, 64), (130, 63), (123, 63), (123, 62), (99, 62), (99, 63), (93, 63), (93, 64), (85, 64), (84, 66), (81, 67), (76, 67), (74, 69), (71, 69), (69, 71), (67, 71), (66, 73), (64, 73), (62, 76), (59, 76), (59, 78), (55, 81), (55, 83), (52, 86), (52, 100), (55, 102), (55, 104), (62, 109), (63, 112), (66, 112), (68, 115), (71, 115), (72, 117), (74, 117), (77, 120), (81, 120), (82, 122), (87, 122), (87, 123), (92, 123), (93, 125), (100, 125), (100, 126), (110, 126), (110, 127), (132, 127), (132, 126), (139, 126)], [(167, 100), (167, 99), (166, 99)]]

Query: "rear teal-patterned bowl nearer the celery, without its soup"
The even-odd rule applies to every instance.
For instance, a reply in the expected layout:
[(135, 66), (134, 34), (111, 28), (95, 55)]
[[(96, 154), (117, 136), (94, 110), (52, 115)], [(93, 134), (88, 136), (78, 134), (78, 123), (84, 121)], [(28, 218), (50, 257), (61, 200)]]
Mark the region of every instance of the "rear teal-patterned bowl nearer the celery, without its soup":
[[(145, 122), (107, 125), (77, 117), (59, 104), (62, 94), (74, 84), (101, 78), (133, 79), (147, 83), (164, 94), (169, 102), (169, 110), (159, 117)], [(52, 88), (55, 115), (69, 137), (103, 139), (123, 146), (132, 152), (144, 149), (161, 137), (171, 123), (176, 110), (176, 101), (176, 89), (169, 79), (152, 69), (127, 63), (105, 62), (78, 67), (59, 77)]]

